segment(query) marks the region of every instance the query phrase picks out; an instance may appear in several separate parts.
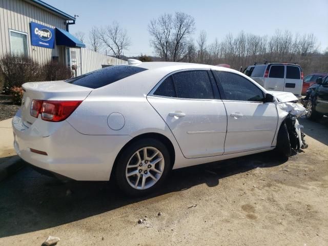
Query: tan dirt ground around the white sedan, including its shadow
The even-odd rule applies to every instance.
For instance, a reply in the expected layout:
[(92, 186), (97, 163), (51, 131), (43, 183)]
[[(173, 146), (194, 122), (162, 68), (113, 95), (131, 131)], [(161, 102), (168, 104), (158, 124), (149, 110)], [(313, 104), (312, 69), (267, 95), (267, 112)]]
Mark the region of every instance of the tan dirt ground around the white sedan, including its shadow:
[(0, 245), (328, 245), (328, 119), (301, 124), (309, 148), (288, 161), (267, 152), (176, 170), (142, 199), (25, 168), (0, 183)]

